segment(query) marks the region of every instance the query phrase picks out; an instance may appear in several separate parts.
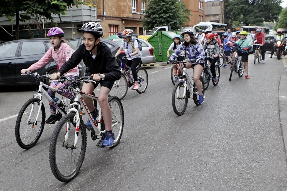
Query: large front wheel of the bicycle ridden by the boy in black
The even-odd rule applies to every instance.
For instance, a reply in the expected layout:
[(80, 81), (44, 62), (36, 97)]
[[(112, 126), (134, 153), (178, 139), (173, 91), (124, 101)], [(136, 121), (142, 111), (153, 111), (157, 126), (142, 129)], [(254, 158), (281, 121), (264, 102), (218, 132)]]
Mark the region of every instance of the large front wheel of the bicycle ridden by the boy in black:
[[(50, 143), (50, 167), (54, 176), (62, 182), (69, 182), (77, 176), (86, 153), (85, 125), (81, 119), (80, 127), (75, 127), (74, 116), (75, 112), (71, 112), (58, 122)], [(78, 137), (76, 147), (75, 136)]]

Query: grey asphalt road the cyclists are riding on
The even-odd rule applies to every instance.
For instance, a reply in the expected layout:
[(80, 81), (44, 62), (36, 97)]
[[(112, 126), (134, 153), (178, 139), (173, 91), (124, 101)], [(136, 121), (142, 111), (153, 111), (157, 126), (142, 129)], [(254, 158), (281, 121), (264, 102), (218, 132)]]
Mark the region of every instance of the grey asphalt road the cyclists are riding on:
[(254, 65), (250, 55), (249, 80), (234, 73), (228, 81), (229, 68), (220, 68), (218, 86), (210, 84), (200, 106), (189, 99), (180, 117), (172, 110), (170, 68), (146, 67), (146, 92), (128, 91), (117, 147), (97, 148), (87, 134), (84, 164), (69, 183), (50, 169), (54, 125), (46, 124), (29, 150), (15, 140), (16, 115), (31, 88), (2, 89), (0, 190), (287, 190), (278, 113), (280, 76), (287, 76), (283, 60), (267, 54), (265, 64)]

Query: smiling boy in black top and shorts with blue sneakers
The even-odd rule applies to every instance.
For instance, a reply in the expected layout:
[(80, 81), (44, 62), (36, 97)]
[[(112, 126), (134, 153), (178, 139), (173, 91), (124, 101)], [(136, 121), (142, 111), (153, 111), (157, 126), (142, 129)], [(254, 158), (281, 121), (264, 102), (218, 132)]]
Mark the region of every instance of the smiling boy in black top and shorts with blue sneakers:
[[(57, 79), (57, 76), (61, 76), (71, 68), (77, 66), (81, 60), (84, 61), (86, 66), (89, 67), (86, 76), (92, 76), (94, 81), (99, 81), (101, 84), (98, 102), (102, 109), (106, 127), (106, 136), (102, 145), (110, 147), (114, 144), (115, 135), (112, 133), (112, 113), (108, 105), (108, 95), (114, 81), (121, 78), (121, 70), (110, 48), (103, 42), (100, 42), (100, 37), (103, 36), (103, 28), (100, 24), (95, 22), (85, 23), (79, 31), (83, 32), (84, 43), (65, 62), (59, 72), (52, 74), (52, 79)], [(104, 80), (98, 76), (99, 73), (104, 76)], [(84, 83), (82, 91), (92, 94), (96, 86), (92, 82)], [(93, 99), (88, 97), (83, 97), (83, 99), (92, 113), (93, 119), (96, 120), (98, 109), (94, 107)], [(87, 129), (92, 129), (90, 120), (87, 122)]]

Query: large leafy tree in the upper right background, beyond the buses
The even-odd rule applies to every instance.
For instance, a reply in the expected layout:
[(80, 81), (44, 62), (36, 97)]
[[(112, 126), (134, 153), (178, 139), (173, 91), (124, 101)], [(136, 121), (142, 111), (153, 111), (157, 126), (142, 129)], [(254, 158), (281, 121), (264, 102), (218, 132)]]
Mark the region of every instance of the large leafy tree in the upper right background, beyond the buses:
[(232, 23), (243, 22), (245, 25), (261, 25), (274, 22), (282, 10), (282, 0), (226, 0), (226, 17)]

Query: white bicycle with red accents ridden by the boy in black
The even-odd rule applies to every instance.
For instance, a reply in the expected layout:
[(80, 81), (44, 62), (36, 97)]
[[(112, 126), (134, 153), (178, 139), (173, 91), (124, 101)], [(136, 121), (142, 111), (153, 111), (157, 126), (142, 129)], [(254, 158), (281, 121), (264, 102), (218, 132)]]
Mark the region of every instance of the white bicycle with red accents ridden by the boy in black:
[[(102, 77), (102, 76), (101, 76)], [(61, 79), (68, 80), (65, 76)], [(98, 97), (80, 91), (79, 82), (93, 82), (91, 77), (82, 77), (73, 80), (71, 83), (75, 88), (74, 102), (69, 105), (69, 112), (57, 124), (50, 143), (49, 158), (50, 167), (54, 176), (62, 181), (69, 182), (75, 178), (82, 166), (86, 153), (87, 134), (86, 125), (82, 120), (82, 116), (88, 114), (91, 121), (92, 140), (100, 139), (96, 144), (97, 147), (104, 147), (102, 142), (105, 138), (105, 125), (102, 117), (102, 111), (99, 109), (99, 118), (96, 122), (92, 118), (92, 114), (88, 110), (83, 96), (98, 100)], [(119, 144), (124, 127), (124, 111), (120, 99), (116, 96), (108, 98), (108, 103), (112, 112), (112, 131), (115, 133), (115, 141), (113, 147)]]

